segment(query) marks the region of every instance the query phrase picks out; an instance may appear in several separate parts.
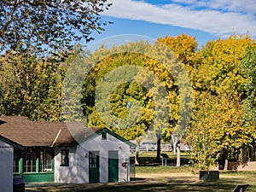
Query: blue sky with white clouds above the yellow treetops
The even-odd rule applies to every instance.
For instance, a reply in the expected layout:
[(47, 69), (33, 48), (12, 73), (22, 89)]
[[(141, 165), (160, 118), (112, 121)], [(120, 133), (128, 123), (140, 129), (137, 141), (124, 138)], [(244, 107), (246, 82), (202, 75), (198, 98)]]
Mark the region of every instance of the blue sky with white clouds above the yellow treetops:
[(113, 21), (95, 41), (115, 35), (148, 38), (187, 33), (199, 45), (220, 35), (249, 32), (256, 38), (256, 0), (108, 0), (113, 3), (102, 20)]

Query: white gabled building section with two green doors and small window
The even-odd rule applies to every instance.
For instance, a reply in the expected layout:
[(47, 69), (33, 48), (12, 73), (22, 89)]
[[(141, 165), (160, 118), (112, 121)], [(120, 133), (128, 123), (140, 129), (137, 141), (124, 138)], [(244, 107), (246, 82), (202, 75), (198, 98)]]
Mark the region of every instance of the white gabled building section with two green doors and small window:
[(130, 145), (122, 137), (108, 129), (96, 131), (77, 146), (55, 148), (55, 182), (130, 181), (129, 156)]

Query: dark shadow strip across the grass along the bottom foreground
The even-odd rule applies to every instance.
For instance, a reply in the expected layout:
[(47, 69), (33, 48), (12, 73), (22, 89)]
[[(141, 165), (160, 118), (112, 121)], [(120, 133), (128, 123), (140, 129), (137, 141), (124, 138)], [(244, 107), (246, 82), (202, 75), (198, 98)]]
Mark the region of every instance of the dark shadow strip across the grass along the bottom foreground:
[[(219, 179), (214, 182), (200, 182), (189, 180), (186, 177), (165, 177), (163, 181), (160, 179), (148, 180), (144, 178), (137, 178), (135, 181), (130, 183), (90, 183), (90, 184), (67, 184), (58, 185), (53, 184), (52, 186), (44, 187), (32, 187), (27, 191), (38, 191), (38, 192), (84, 192), (84, 191), (102, 191), (102, 192), (131, 192), (131, 191), (199, 191), (199, 192), (216, 192), (225, 191), (231, 192), (236, 186), (232, 179)], [(247, 192), (255, 191), (256, 186), (249, 186)]]

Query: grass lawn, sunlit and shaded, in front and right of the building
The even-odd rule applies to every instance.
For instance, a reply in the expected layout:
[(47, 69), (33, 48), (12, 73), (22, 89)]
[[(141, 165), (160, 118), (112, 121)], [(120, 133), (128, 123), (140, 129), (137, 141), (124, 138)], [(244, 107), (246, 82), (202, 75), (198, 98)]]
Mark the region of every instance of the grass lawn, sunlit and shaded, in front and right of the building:
[[(168, 154), (169, 155), (169, 154)], [(170, 165), (172, 164), (170, 153)], [(174, 158), (174, 156), (173, 156)], [(183, 162), (187, 160), (183, 154)], [(200, 181), (198, 174), (192, 174), (189, 166), (161, 166), (155, 162), (155, 152), (140, 155), (141, 166), (136, 166), (136, 178), (130, 183), (89, 183), (58, 184), (52, 183), (26, 186), (27, 191), (37, 192), (132, 192), (132, 191), (199, 191), (199, 192), (231, 192), (237, 183), (248, 183), (246, 192), (256, 191), (256, 172), (220, 172), (217, 181)], [(147, 166), (147, 163), (149, 166)]]

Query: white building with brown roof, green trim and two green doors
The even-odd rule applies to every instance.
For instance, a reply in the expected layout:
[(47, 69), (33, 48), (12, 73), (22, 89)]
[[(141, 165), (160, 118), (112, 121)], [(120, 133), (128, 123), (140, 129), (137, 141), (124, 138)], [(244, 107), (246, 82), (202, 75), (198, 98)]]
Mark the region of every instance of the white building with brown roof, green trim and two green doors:
[[(135, 145), (106, 128), (3, 116), (0, 135), (19, 146), (13, 148), (11, 168), (14, 176), (24, 177), (26, 183), (130, 181), (130, 148)], [(0, 172), (0, 177), (4, 174)]]

